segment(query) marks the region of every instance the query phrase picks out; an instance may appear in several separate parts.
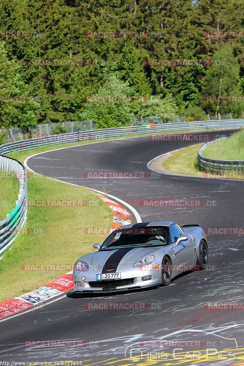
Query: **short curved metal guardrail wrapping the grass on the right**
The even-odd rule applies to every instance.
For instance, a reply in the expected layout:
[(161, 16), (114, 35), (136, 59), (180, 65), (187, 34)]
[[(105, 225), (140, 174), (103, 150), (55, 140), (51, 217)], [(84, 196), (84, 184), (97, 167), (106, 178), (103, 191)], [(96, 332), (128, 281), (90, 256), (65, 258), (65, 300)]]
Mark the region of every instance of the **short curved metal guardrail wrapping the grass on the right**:
[(211, 159), (203, 155), (204, 149), (216, 141), (225, 140), (228, 137), (222, 137), (213, 141), (204, 143), (198, 150), (198, 164), (201, 170), (205, 172), (244, 172), (244, 161), (242, 160), (222, 160)]

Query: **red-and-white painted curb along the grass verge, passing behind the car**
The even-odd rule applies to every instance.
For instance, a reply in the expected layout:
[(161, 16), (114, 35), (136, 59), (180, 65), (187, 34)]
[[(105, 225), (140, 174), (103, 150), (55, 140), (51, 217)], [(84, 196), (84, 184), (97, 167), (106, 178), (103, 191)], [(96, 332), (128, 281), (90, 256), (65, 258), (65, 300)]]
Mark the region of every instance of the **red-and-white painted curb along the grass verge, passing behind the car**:
[[(97, 194), (97, 193), (96, 193)], [(113, 212), (113, 224), (112, 229), (116, 229), (123, 225), (131, 224), (131, 215), (128, 211), (119, 203), (112, 201), (112, 199), (97, 194)], [(65, 275), (59, 277), (57, 280), (40, 287), (37, 290), (27, 292), (26, 294), (15, 297), (14, 299), (6, 300), (0, 303), (0, 318), (7, 317), (18, 313), (19, 311), (26, 310), (33, 305), (38, 305), (41, 302), (49, 300), (55, 296), (62, 294), (63, 292), (72, 290), (74, 288), (72, 271), (65, 273)]]

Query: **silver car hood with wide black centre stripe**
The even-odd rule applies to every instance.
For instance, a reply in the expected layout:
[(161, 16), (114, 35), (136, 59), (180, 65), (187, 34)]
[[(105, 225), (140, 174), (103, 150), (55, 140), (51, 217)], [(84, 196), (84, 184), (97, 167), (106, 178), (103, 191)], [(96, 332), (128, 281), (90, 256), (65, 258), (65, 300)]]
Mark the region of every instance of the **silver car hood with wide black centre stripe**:
[(102, 265), (109, 260), (110, 265), (135, 263), (146, 255), (153, 254), (159, 247), (133, 248), (97, 251), (91, 258), (91, 265)]

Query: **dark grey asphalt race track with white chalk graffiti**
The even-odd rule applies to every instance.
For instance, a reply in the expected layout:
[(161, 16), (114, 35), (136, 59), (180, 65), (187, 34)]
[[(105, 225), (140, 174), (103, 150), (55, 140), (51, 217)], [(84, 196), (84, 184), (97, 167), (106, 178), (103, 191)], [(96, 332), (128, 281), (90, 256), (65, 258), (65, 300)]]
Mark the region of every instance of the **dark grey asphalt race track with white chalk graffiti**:
[[(147, 169), (154, 157), (192, 143), (128, 138), (42, 153), (30, 158), (28, 165), (35, 172), (66, 182), (100, 191), (105, 188), (134, 206), (142, 221), (172, 220), (180, 225), (198, 223), (203, 228), (242, 228), (243, 182), (163, 174), (153, 178)], [(88, 172), (135, 171), (147, 172), (148, 178), (85, 178)], [(139, 204), (139, 200), (169, 197), (204, 203), (196, 207)], [(0, 361), (82, 361), (83, 366), (244, 365), (244, 310), (206, 307), (212, 302), (244, 302), (243, 235), (213, 234), (207, 239), (209, 269), (184, 273), (169, 287), (104, 296), (71, 292), (50, 305), (0, 322)], [(147, 305), (141, 310), (87, 310), (85, 306), (135, 302)], [(22, 342), (32, 340), (86, 343), (84, 347), (22, 346)], [(151, 343), (152, 347), (142, 343), (158, 340), (185, 343), (164, 348), (157, 343)], [(188, 341), (196, 343), (192, 346)], [(190, 351), (195, 351), (194, 356), (189, 356)], [(159, 356), (158, 352), (165, 353)]]

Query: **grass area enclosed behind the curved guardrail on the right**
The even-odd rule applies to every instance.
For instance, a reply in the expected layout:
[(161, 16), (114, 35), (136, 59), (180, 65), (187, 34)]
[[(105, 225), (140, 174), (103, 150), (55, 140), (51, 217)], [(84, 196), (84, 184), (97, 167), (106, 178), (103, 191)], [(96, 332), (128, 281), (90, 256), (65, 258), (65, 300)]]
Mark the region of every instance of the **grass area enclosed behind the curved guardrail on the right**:
[(212, 159), (244, 160), (244, 129), (207, 146), (203, 155)]

